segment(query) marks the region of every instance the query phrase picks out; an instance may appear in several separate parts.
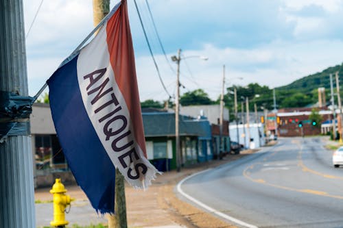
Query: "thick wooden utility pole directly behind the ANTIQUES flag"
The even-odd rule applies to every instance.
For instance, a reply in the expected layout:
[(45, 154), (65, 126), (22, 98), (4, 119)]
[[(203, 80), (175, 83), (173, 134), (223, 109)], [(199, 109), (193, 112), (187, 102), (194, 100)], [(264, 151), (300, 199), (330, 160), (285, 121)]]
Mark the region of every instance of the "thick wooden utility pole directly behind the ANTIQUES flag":
[[(96, 27), (110, 12), (110, 0), (93, 0), (93, 24)], [(115, 214), (106, 214), (108, 228), (126, 228), (126, 197), (124, 177), (115, 170)]]

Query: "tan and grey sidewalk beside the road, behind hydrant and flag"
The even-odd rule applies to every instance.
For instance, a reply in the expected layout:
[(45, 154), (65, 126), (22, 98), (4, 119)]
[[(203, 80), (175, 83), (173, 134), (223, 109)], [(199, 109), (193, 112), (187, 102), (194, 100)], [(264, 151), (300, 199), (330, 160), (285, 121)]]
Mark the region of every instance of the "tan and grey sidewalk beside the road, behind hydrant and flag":
[[(220, 166), (227, 162), (237, 160), (240, 157), (254, 151), (241, 151), (239, 155), (226, 155), (223, 160), (215, 160), (201, 164), (195, 164), (191, 168), (182, 168), (180, 173), (175, 170), (158, 175), (152, 186), (146, 191), (136, 190), (126, 186), (126, 210), (128, 227), (154, 227), (154, 228), (231, 228), (235, 227), (225, 223), (219, 218), (207, 214), (196, 207), (180, 201), (174, 192), (174, 187), (181, 179), (207, 168)], [(91, 207), (86, 195), (78, 186), (65, 186), (67, 194), (76, 200), (71, 204), (71, 211), (66, 215), (69, 225), (106, 224), (106, 218), (98, 216)], [(36, 201), (49, 202), (52, 195), (50, 188), (36, 190)], [(36, 203), (37, 227), (48, 226), (53, 218), (52, 203)], [(70, 226), (71, 227), (71, 226)]]

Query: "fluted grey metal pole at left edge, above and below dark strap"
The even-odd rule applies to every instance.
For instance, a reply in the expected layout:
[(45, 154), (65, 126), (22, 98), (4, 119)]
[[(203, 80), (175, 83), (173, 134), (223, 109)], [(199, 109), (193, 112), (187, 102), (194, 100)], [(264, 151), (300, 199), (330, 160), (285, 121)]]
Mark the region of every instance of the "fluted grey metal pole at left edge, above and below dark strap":
[[(0, 1), (0, 91), (28, 95), (23, 1)], [(29, 136), (0, 144), (0, 227), (34, 228), (34, 178)]]

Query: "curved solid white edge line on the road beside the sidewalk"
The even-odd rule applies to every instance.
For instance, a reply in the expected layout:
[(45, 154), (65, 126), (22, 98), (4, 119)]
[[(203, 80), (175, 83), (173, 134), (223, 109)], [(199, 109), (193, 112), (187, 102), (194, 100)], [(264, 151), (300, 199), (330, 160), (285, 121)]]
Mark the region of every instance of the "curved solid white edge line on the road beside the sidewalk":
[(185, 179), (182, 179), (182, 181), (180, 181), (180, 182), (178, 183), (178, 185), (176, 186), (176, 190), (177, 190), (180, 194), (182, 194), (182, 196), (186, 197), (187, 199), (189, 199), (189, 200), (192, 201), (193, 203), (196, 203), (196, 204), (199, 205), (200, 207), (204, 208), (205, 210), (207, 210), (207, 211), (209, 211), (209, 212), (211, 212), (211, 213), (213, 213), (213, 214), (216, 214), (217, 216), (220, 216), (220, 217), (222, 217), (222, 218), (225, 218), (226, 220), (230, 220), (231, 222), (236, 223), (236, 224), (238, 224), (238, 225), (241, 225), (241, 226), (243, 226), (243, 227), (247, 227), (247, 228), (258, 228), (258, 227), (255, 226), (255, 225), (251, 225), (251, 224), (249, 224), (249, 223), (245, 223), (245, 222), (242, 221), (242, 220), (239, 220), (239, 219), (237, 219), (237, 218), (233, 218), (233, 217), (231, 217), (231, 216), (228, 216), (227, 214), (224, 214), (224, 213), (222, 213), (222, 212), (219, 212), (219, 211), (213, 209), (212, 207), (209, 207), (208, 205), (206, 205), (206, 204), (204, 204), (204, 203), (198, 201), (197, 199), (194, 199), (193, 197), (191, 197), (189, 194), (185, 193), (185, 192), (181, 189), (182, 183), (185, 182), (185, 181), (187, 181), (187, 179), (189, 179), (189, 178), (191, 178), (191, 177), (194, 177), (194, 176), (196, 176), (196, 175), (199, 175), (200, 173), (207, 172), (207, 171), (209, 171), (209, 170), (211, 170), (211, 169), (203, 170), (203, 171), (201, 171), (201, 172), (199, 172), (199, 173), (194, 173), (193, 175), (190, 175), (189, 177), (186, 177)]

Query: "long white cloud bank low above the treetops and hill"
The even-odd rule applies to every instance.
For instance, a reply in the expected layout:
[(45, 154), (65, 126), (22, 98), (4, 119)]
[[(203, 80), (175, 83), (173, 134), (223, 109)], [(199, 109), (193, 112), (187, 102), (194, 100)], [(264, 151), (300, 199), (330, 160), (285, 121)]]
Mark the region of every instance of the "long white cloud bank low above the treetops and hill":
[[(193, 77), (187, 73), (187, 68), (182, 64), (180, 81), (186, 89), (181, 92), (203, 88), (211, 99), (217, 99), (221, 92), (222, 65), (226, 64), (226, 81), (228, 84), (246, 86), (250, 83), (266, 85), (270, 88), (284, 86), (301, 77), (324, 70), (328, 66), (335, 66), (342, 62), (340, 50), (343, 42), (274, 42), (257, 49), (218, 49), (206, 45), (198, 51), (185, 51), (184, 55), (206, 55), (209, 60), (202, 62), (196, 58), (187, 60)], [(161, 68), (164, 57), (157, 56)], [(158, 81), (156, 71), (149, 64), (150, 57), (137, 59), (137, 75), (141, 100), (167, 99), (163, 88)], [(237, 77), (243, 77), (239, 80)], [(176, 75), (170, 72), (163, 74), (166, 85), (171, 85), (170, 91), (176, 88)], [(196, 83), (194, 82), (196, 81)]]

